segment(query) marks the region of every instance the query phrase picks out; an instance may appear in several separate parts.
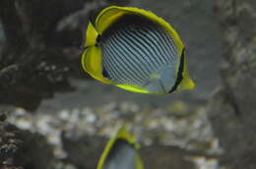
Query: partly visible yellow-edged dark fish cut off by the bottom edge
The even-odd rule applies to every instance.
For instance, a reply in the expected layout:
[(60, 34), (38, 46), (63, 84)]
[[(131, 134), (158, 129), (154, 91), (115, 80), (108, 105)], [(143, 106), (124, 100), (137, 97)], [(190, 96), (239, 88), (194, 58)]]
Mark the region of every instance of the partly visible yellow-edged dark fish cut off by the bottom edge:
[(96, 169), (144, 169), (137, 149), (135, 139), (122, 127), (107, 142)]

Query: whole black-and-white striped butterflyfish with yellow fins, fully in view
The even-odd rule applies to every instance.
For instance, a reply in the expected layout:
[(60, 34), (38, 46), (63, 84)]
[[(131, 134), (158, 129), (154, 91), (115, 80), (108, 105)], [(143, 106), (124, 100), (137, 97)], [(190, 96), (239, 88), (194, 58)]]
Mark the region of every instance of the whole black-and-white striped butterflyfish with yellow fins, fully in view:
[(87, 28), (84, 70), (96, 80), (134, 92), (192, 89), (186, 51), (163, 19), (138, 8), (103, 9)]

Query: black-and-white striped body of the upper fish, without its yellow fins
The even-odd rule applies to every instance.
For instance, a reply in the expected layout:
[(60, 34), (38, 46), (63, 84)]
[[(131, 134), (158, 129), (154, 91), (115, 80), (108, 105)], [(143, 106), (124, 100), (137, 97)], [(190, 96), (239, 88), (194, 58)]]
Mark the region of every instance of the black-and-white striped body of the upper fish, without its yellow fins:
[(177, 47), (169, 33), (142, 16), (127, 15), (102, 33), (102, 74), (116, 84), (162, 93), (177, 80)]

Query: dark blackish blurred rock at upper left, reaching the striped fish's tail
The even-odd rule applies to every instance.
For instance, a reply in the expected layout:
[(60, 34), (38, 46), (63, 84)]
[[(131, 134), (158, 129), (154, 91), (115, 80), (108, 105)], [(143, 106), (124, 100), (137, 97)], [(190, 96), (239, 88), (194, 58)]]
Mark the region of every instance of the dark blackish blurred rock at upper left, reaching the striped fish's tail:
[(56, 91), (73, 89), (69, 77), (82, 74), (80, 48), (89, 16), (128, 2), (0, 1), (0, 103), (33, 111)]

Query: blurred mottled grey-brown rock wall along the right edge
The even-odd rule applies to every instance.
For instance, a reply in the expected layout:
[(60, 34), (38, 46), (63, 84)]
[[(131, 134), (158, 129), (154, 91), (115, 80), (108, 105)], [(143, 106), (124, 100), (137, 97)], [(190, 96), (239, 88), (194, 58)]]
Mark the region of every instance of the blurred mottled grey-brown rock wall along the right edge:
[[(223, 86), (209, 104), (227, 169), (256, 168), (256, 1), (218, 0), (224, 26)], [(249, 26), (249, 27), (248, 27)]]

